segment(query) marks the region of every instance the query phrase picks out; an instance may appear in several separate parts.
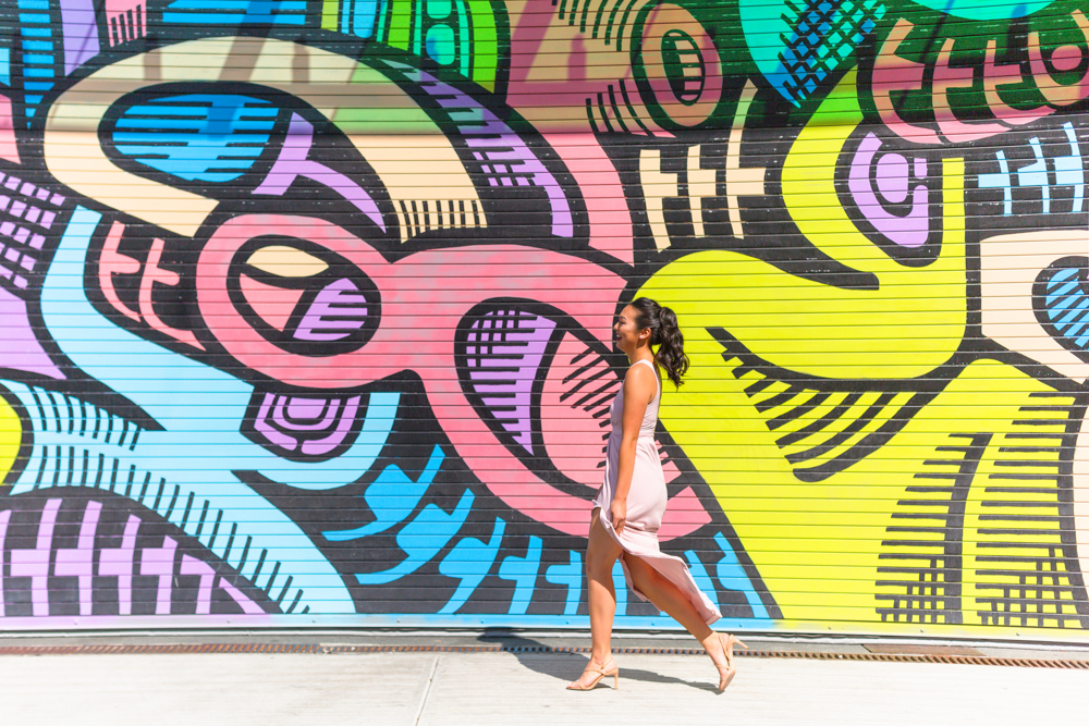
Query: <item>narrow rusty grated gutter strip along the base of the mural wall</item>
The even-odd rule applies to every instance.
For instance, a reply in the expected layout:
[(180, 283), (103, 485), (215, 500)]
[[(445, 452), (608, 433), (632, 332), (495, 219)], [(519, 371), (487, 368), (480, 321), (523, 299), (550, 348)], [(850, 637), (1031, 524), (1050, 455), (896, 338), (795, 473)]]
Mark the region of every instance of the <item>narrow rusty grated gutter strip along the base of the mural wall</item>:
[[(175, 643), (175, 644), (100, 644), (100, 645), (0, 645), (0, 657), (11, 655), (143, 655), (266, 653), (302, 655), (345, 655), (366, 653), (589, 653), (578, 645), (328, 645), (318, 643)], [(703, 655), (701, 648), (613, 648), (621, 655)], [(885, 663), (951, 663), (965, 665), (1004, 665), (1033, 668), (1089, 670), (1089, 660), (999, 657), (941, 653), (837, 653), (829, 651), (749, 650), (739, 657), (808, 659), (818, 661), (869, 661)], [(438, 659), (438, 656), (437, 656)], [(438, 660), (435, 666), (437, 667)], [(432, 668), (431, 678), (435, 672)], [(430, 679), (428, 680), (430, 685)]]

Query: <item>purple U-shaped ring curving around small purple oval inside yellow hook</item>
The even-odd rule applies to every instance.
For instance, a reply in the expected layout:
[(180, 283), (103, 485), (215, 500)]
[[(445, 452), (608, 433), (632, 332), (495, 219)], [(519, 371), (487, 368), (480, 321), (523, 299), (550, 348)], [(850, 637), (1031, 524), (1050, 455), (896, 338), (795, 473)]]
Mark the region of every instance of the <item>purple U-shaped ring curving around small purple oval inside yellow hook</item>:
[[(872, 133), (867, 134), (851, 160), (847, 188), (855, 198), (858, 210), (874, 230), (901, 247), (921, 247), (927, 244), (927, 238), (930, 236), (928, 204), (930, 192), (922, 184), (911, 189), (911, 209), (906, 217), (886, 211), (870, 186), (870, 167), (880, 148), (881, 139)], [(918, 160), (915, 161), (914, 168), (918, 169)], [(906, 173), (907, 167), (905, 165), (902, 171)], [(904, 184), (907, 185), (907, 180)]]

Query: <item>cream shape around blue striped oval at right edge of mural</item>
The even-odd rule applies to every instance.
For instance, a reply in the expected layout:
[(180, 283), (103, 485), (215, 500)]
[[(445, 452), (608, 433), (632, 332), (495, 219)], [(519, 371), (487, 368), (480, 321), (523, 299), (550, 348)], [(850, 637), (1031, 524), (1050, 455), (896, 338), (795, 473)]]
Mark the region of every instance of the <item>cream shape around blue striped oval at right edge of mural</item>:
[(1026, 232), (982, 241), (983, 334), (1067, 378), (1079, 382), (1089, 378), (1089, 364), (1055, 342), (1032, 309), (1032, 285), (1040, 271), (1062, 257), (1087, 254), (1089, 234), (1085, 230)]

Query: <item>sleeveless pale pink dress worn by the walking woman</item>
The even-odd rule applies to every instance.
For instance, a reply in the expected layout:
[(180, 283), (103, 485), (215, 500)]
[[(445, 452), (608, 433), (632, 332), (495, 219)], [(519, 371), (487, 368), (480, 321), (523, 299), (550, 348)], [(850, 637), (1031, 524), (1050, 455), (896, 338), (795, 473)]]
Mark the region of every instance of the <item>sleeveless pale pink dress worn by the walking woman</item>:
[[(646, 364), (654, 371), (654, 365), (649, 360), (637, 360), (634, 365)], [(658, 424), (658, 406), (662, 398), (662, 381), (658, 379), (658, 391), (654, 398), (647, 404), (647, 413), (643, 416), (643, 424), (639, 427), (639, 441), (635, 451), (635, 469), (632, 472), (632, 488), (627, 492), (627, 522), (624, 531), (616, 534), (612, 522), (609, 520), (609, 505), (612, 504), (613, 494), (616, 492), (616, 473), (620, 469), (620, 444), (623, 436), (624, 418), (624, 389), (621, 386), (612, 408), (609, 410), (609, 418), (612, 422), (612, 432), (609, 434), (609, 446), (605, 450), (605, 480), (594, 500), (594, 506), (601, 507), (601, 524), (605, 531), (624, 547), (628, 555), (639, 557), (653, 567), (663, 577), (677, 586), (703, 620), (710, 625), (720, 617), (722, 613), (714, 606), (714, 603), (705, 595), (688, 571), (688, 565), (680, 557), (664, 554), (658, 546), (658, 528), (662, 525), (662, 515), (665, 514), (665, 475), (662, 472), (662, 462), (658, 456), (658, 444), (654, 442), (654, 428)], [(627, 569), (624, 555), (620, 558), (624, 568), (624, 578), (627, 587), (643, 600), (648, 598), (635, 589), (632, 583), (632, 574)]]

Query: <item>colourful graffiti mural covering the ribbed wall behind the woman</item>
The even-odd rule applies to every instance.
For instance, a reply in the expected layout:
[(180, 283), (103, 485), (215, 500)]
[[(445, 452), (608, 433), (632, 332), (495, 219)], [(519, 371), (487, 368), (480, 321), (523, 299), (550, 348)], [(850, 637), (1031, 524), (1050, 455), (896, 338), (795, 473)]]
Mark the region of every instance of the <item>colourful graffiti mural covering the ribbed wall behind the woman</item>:
[[(0, 628), (1089, 640), (1086, 0), (0, 0)], [(620, 627), (675, 627), (624, 587)]]

